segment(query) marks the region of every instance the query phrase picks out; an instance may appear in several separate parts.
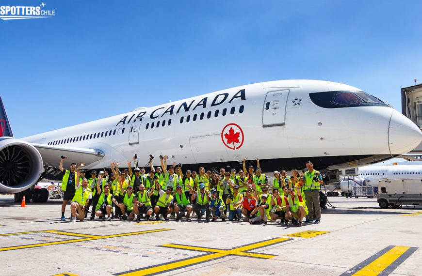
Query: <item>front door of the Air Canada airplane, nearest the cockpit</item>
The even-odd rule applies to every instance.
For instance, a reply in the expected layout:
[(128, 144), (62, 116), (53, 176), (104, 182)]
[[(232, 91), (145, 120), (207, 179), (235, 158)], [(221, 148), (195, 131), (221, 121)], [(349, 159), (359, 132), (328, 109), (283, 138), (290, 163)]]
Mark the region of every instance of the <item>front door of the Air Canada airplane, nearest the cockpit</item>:
[(262, 110), (262, 126), (280, 126), (286, 124), (286, 105), (289, 89), (270, 91), (265, 96)]

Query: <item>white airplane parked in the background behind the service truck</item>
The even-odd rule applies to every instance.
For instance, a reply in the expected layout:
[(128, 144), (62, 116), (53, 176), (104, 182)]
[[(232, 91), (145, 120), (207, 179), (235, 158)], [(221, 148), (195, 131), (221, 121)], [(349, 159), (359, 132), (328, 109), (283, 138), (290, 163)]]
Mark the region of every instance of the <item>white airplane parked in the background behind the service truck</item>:
[(422, 179), (422, 165), (387, 165), (365, 166), (358, 168), (354, 181), (341, 180), (341, 191), (351, 194), (354, 186), (373, 186), (378, 190), (378, 181), (382, 179)]

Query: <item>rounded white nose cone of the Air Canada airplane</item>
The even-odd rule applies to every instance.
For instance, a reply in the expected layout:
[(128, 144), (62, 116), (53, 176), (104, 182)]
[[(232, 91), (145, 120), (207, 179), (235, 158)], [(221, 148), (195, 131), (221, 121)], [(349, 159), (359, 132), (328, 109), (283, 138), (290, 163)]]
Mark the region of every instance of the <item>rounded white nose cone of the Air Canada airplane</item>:
[(390, 154), (404, 154), (416, 148), (422, 141), (419, 127), (406, 116), (394, 110), (389, 123)]

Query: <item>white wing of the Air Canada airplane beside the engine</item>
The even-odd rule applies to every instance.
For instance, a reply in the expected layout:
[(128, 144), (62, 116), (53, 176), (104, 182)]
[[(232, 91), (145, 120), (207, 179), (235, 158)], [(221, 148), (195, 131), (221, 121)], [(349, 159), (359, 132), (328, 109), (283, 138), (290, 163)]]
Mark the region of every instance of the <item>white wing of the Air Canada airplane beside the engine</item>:
[(36, 143), (32, 143), (32, 145), (41, 154), (44, 165), (52, 167), (58, 166), (62, 155), (67, 156), (67, 160), (75, 163), (84, 162), (86, 165), (97, 162), (104, 157), (104, 152), (98, 149), (70, 148)]

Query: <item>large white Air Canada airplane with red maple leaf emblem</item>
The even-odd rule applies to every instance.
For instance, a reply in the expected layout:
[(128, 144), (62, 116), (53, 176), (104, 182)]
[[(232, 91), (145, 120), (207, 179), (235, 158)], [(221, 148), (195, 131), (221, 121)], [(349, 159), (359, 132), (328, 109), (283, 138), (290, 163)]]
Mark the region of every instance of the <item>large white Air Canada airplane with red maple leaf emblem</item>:
[(264, 171), (304, 168), (307, 160), (336, 170), (408, 153), (422, 141), (414, 123), (378, 98), (318, 80), (249, 84), (21, 139), (1, 107), (0, 191), (17, 197), (42, 178), (61, 179), (61, 155), (65, 168), (85, 162), (88, 170), (126, 164), (134, 154), (142, 164), (166, 154), (184, 170), (239, 169), (244, 156), (258, 156)]

